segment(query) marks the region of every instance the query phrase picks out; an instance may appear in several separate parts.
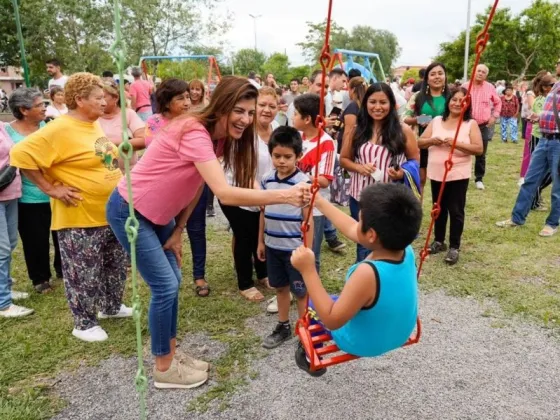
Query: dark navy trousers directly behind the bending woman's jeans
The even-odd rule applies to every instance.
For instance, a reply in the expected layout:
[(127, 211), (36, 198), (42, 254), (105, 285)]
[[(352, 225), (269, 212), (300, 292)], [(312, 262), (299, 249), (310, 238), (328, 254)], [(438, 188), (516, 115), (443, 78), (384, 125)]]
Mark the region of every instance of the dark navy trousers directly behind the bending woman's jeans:
[(208, 186), (204, 186), (200, 200), (187, 222), (187, 233), (193, 259), (193, 279), (204, 279), (206, 267), (206, 201)]

